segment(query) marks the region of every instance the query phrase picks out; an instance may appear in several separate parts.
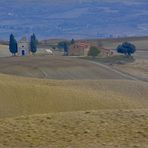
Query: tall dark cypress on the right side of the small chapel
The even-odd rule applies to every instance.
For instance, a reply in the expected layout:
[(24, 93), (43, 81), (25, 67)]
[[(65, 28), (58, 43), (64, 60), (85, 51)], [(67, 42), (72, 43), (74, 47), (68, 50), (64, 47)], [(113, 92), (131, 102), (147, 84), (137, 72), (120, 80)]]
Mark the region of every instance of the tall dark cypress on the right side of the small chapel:
[(31, 41), (30, 41), (30, 51), (34, 54), (37, 52), (37, 38), (35, 34), (31, 35)]

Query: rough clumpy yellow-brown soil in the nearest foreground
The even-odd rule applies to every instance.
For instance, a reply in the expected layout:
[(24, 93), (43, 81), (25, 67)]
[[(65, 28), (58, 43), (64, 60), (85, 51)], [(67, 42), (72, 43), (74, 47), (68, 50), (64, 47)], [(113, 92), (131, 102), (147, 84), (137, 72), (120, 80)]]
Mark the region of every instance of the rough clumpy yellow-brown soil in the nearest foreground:
[(0, 120), (1, 146), (147, 148), (148, 110), (100, 110)]

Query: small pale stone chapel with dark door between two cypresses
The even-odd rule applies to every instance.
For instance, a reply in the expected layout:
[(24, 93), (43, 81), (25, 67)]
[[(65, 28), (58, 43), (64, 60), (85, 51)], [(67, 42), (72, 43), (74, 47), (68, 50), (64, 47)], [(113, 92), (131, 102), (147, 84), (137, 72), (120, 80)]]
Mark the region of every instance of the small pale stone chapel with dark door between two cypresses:
[(26, 37), (23, 37), (18, 42), (18, 55), (25, 56), (29, 55), (30, 53), (30, 42), (27, 40)]

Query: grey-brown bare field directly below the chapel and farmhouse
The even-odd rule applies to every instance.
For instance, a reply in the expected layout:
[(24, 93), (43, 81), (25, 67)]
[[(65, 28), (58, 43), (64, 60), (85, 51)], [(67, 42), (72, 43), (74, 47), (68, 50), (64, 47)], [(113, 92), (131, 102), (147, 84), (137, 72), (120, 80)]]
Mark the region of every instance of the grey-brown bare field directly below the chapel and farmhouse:
[(62, 56), (0, 58), (0, 73), (43, 79), (129, 79), (112, 69)]

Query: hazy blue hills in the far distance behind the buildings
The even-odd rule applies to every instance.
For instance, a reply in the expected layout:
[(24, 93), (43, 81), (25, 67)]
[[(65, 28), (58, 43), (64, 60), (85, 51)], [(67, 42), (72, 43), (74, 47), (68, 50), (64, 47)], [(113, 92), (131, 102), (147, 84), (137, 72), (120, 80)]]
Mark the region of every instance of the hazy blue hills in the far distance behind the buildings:
[(143, 0), (1, 0), (0, 39), (35, 32), (44, 38), (98, 38), (148, 34)]

